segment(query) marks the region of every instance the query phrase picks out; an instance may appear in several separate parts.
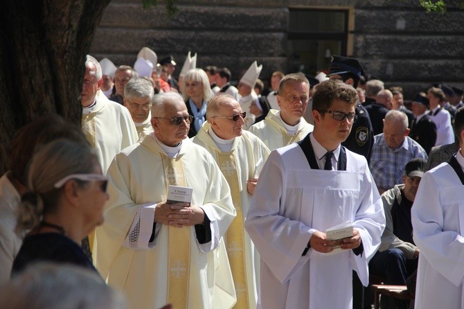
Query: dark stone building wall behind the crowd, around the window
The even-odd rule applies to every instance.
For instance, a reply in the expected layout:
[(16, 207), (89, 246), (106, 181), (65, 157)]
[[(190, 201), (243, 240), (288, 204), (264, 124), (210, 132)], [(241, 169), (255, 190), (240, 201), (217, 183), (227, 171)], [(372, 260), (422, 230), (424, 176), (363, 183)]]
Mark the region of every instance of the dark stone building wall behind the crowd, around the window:
[(434, 82), (464, 87), (464, 11), (447, 2), (442, 15), (425, 12), (418, 0), (191, 0), (177, 1), (180, 10), (169, 19), (163, 3), (144, 10), (141, 0), (113, 0), (91, 54), (134, 64), (149, 46), (159, 59), (173, 55), (179, 73), (192, 51), (197, 67), (229, 67), (234, 80), (258, 60), (267, 80), (272, 71), (287, 71), (289, 7), (354, 8), (350, 56), (387, 86), (402, 85), (410, 98)]

